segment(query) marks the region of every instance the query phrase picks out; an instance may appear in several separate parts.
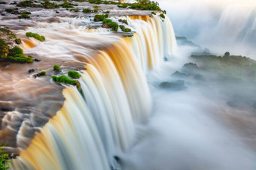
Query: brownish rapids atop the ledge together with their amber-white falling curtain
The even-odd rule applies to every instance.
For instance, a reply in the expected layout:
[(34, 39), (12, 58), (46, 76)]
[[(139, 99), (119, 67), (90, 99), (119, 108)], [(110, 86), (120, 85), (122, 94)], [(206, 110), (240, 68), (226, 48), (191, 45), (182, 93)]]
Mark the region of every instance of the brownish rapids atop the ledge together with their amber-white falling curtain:
[[(135, 31), (133, 37), (112, 34), (102, 28), (87, 29), (90, 19), (84, 17), (53, 17), (50, 22), (44, 22), (47, 19), (31, 21), (28, 27), (21, 27), (38, 32), (47, 40), (39, 43), (22, 38), (21, 47), (26, 54), (41, 59), (38, 64), (2, 67), (2, 72), (13, 70), (14, 82), (20, 82), (19, 88), (12, 86), (9, 98), (2, 95), (2, 100), (12, 108), (2, 109), (2, 115), (5, 115), (2, 118), (2, 123), (5, 122), (1, 130), (2, 143), (11, 139), (13, 143), (8, 144), (7, 151), (20, 154), (11, 163), (12, 169), (84, 169), (86, 159), (87, 169), (110, 169), (109, 164), (114, 166), (114, 154), (130, 148), (134, 123), (145, 121), (151, 112), (145, 73), (159, 67), (164, 58), (172, 55), (175, 34), (167, 17), (132, 15), (111, 19), (117, 21), (120, 18), (128, 20), (129, 27)], [(18, 29), (17, 34), (25, 34), (26, 31), (12, 24), (5, 20), (5, 25)], [(53, 64), (61, 65), (62, 73), (67, 70), (83, 73), (80, 80), (82, 94), (75, 88), (66, 88), (63, 91), (64, 106), (63, 87), (52, 83), (50, 76), (34, 79), (24, 74), (29, 67), (46, 70), (47, 75), (58, 74), (52, 70)], [(20, 76), (16, 73), (18, 69), (22, 71)], [(23, 88), (25, 82), (26, 88)], [(1, 83), (2, 93), (6, 94), (9, 82)], [(38, 90), (32, 91), (33, 87)], [(11, 96), (21, 93), (19, 106)], [(31, 95), (37, 97), (36, 100)], [(32, 121), (33, 118), (38, 122)], [(75, 141), (77, 148), (71, 149)], [(64, 148), (66, 151), (62, 151)], [(95, 166), (97, 163), (99, 167)]]

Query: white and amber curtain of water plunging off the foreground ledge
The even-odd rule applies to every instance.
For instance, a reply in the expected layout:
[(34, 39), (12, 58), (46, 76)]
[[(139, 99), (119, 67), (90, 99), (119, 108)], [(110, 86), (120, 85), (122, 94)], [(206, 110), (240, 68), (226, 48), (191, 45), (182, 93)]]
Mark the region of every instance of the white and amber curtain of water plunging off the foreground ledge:
[(86, 63), (81, 91), (70, 86), (62, 91), (62, 109), (20, 151), (11, 169), (111, 169), (114, 155), (130, 148), (135, 124), (151, 112), (145, 73), (173, 54), (175, 34), (167, 16), (127, 19), (133, 37), (117, 38), (93, 56), (76, 52)]

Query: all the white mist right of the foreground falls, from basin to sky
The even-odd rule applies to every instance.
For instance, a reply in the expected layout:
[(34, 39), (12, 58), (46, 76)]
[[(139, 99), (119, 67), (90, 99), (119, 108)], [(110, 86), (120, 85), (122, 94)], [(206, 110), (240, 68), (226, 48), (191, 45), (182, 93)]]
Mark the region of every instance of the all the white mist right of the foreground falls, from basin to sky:
[[(147, 123), (137, 125), (133, 146), (120, 155), (121, 166), (126, 170), (256, 169), (254, 72), (240, 71), (239, 66), (209, 69), (218, 61), (190, 57), (206, 51), (210, 51), (206, 56), (223, 56), (229, 51), (255, 58), (255, 2), (159, 2), (176, 36), (196, 45), (178, 43), (177, 54), (148, 73), (153, 112)], [(187, 63), (197, 67), (185, 70)], [(169, 88), (177, 81), (181, 88)], [(161, 87), (163, 82), (169, 83), (167, 88)]]

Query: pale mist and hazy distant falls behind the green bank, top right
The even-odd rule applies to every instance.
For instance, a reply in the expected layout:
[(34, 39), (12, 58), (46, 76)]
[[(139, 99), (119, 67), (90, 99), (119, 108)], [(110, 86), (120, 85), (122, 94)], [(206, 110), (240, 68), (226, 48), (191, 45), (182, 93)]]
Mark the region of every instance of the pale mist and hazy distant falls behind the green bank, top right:
[(223, 54), (255, 58), (256, 1), (159, 0), (172, 21), (176, 36)]

